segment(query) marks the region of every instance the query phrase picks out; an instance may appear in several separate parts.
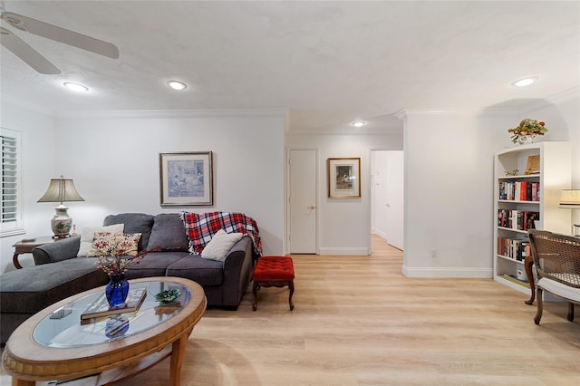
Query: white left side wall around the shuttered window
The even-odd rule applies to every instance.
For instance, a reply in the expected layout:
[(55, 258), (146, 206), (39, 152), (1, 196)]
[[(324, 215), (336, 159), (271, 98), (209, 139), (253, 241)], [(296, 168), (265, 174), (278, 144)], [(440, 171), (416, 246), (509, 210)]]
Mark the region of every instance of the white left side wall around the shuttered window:
[[(50, 220), (54, 216), (50, 204), (39, 204), (54, 177), (55, 121), (48, 111), (3, 96), (0, 126), (21, 132), (21, 173), (24, 207), (23, 235), (0, 238), (0, 272), (14, 270), (12, 256), (16, 241), (24, 237), (51, 235)], [(34, 265), (31, 255), (19, 256), (23, 266)]]

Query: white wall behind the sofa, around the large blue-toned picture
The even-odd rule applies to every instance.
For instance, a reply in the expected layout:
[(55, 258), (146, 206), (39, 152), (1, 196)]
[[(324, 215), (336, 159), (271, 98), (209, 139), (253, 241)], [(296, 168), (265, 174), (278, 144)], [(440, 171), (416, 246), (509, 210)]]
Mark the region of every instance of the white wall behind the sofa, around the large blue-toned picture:
[[(111, 213), (246, 213), (256, 219), (264, 253), (285, 240), (284, 114), (213, 111), (136, 112), (58, 120), (56, 170), (74, 179), (84, 202), (70, 203), (77, 229)], [(213, 152), (214, 205), (160, 207), (161, 152)]]

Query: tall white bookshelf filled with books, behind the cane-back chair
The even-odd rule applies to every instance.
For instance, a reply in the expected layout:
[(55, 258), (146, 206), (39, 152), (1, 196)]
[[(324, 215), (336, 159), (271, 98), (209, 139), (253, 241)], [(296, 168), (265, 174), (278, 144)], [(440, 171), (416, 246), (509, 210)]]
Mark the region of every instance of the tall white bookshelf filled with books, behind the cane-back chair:
[(570, 210), (558, 206), (560, 191), (571, 184), (571, 147), (539, 142), (508, 148), (496, 153), (494, 166), (494, 279), (529, 294), (527, 230), (570, 232)]

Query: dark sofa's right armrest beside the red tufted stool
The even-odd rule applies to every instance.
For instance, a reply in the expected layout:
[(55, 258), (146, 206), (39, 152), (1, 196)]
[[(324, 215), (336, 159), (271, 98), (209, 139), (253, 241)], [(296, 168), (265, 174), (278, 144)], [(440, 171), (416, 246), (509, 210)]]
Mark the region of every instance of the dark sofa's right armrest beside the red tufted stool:
[(224, 305), (237, 308), (252, 277), (253, 262), (252, 239), (244, 236), (232, 246), (224, 261)]

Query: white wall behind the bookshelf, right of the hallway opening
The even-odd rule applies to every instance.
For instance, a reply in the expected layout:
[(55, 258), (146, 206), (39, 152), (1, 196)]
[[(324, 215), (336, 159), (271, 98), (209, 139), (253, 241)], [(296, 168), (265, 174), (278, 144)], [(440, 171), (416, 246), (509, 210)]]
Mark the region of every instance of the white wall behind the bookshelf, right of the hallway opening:
[(517, 146), (507, 129), (523, 118), (546, 121), (538, 140), (573, 143), (572, 186), (580, 188), (577, 95), (527, 111), (405, 111), (405, 275), (492, 277), (493, 155)]

